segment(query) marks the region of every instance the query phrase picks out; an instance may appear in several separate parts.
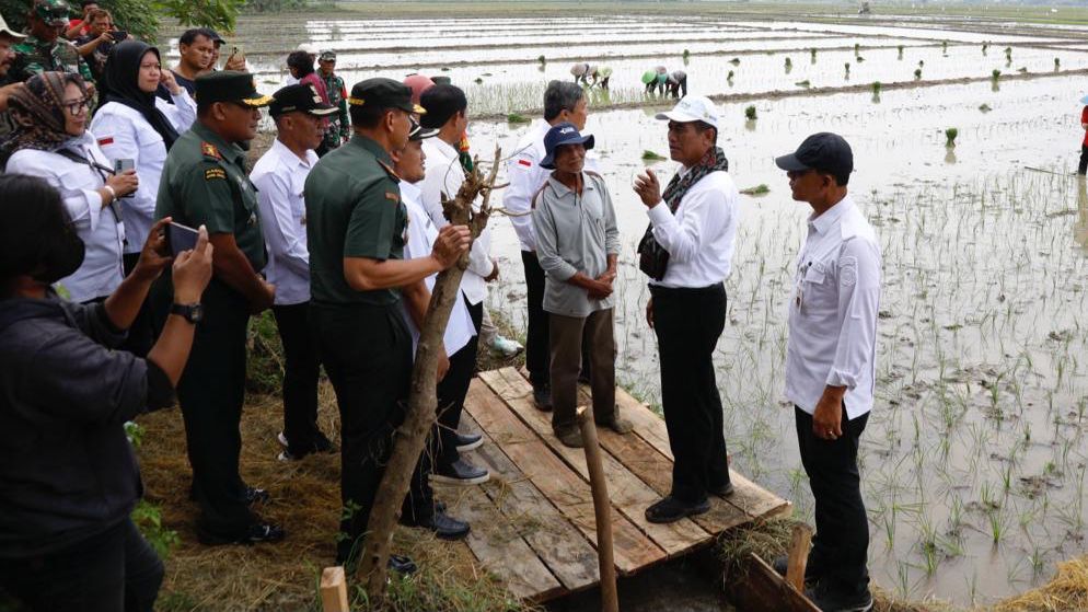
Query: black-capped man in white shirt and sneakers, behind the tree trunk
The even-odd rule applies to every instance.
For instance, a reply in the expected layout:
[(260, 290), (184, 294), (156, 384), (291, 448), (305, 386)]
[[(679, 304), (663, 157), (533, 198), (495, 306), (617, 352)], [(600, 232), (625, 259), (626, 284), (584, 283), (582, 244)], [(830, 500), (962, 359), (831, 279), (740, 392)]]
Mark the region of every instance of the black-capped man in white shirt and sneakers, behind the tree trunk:
[[(407, 190), (402, 188), (402, 197), (410, 213), (408, 194), (418, 193), (419, 205), (437, 232), (438, 229), (450, 224), (442, 210), (442, 199), (456, 197), (465, 178), (456, 143), (468, 126), (468, 101), (460, 88), (440, 84), (424, 91), (419, 96), (419, 105), (427, 111), (420, 116), (419, 124), (423, 129), (431, 130), (435, 138), (423, 139), (421, 151), (427, 160), (424, 180), (414, 186), (409, 185)], [(409, 146), (413, 145), (409, 142)], [(443, 405), (439, 413), (440, 443), (433, 458), (432, 476), (437, 482), (467, 485), (485, 482), (488, 477), (487, 470), (473, 465), (459, 453), (459, 450), (478, 447), (483, 438), (476, 434), (471, 436), (460, 434), (458, 427), (461, 425), (465, 395), (468, 393), (468, 383), (476, 367), (476, 351), (479, 346), (477, 335), (486, 311), (484, 305), (484, 298), (487, 297), (486, 282), (498, 278), (499, 275), (498, 265), (490, 257), (490, 246), (491, 232), (485, 228), (472, 244), (472, 250), (468, 252), (468, 268), (461, 278), (460, 298), (467, 307), (473, 337), (461, 350), (458, 350), (461, 347), (445, 347), (450, 355), (450, 374), (439, 384), (440, 401), (448, 405)], [(405, 255), (405, 257), (410, 256), (414, 255)], [(408, 296), (406, 295), (405, 298), (407, 300)], [(426, 311), (426, 302), (423, 307)]]

